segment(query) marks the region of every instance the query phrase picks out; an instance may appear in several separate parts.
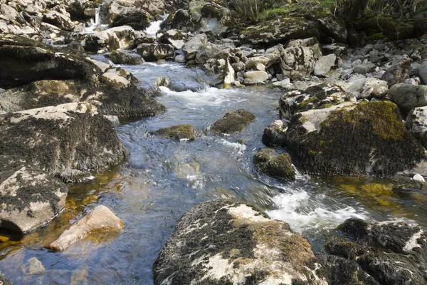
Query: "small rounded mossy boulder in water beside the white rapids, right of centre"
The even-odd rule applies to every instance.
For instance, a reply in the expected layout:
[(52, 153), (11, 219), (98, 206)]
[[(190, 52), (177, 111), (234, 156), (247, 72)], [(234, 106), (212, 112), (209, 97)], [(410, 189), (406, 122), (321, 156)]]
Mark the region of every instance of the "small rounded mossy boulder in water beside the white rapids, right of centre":
[(288, 153), (280, 154), (273, 148), (263, 148), (253, 155), (253, 163), (259, 172), (271, 177), (295, 179), (295, 170)]

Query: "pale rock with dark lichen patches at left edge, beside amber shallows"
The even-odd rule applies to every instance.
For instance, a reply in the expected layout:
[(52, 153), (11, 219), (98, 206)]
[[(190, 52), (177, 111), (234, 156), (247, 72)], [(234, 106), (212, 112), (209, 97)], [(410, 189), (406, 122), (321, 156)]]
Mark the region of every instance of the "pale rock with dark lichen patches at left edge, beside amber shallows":
[[(9, 132), (6, 130), (6, 133)], [(9, 138), (9, 141), (2, 138), (1, 149), (21, 146), (17, 138)], [(18, 142), (11, 144), (10, 140)], [(34, 151), (40, 147), (39, 142)], [(26, 150), (28, 151), (28, 147)], [(27, 157), (19, 157), (19, 154), (10, 152), (13, 151), (9, 150), (9, 153), (0, 157), (0, 228), (7, 232), (25, 234), (47, 224), (60, 214), (65, 207), (68, 189), (53, 175), (48, 175), (37, 167), (23, 166), (19, 159)], [(47, 154), (46, 151), (44, 153)], [(14, 164), (14, 167), (9, 166), (9, 163)]]

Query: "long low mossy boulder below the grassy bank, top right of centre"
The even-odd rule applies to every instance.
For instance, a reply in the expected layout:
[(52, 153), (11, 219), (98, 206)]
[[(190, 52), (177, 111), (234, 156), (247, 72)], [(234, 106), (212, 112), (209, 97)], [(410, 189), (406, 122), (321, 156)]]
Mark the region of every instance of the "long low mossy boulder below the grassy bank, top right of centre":
[(249, 26), (241, 31), (239, 39), (255, 46), (275, 46), (297, 38), (319, 38), (314, 21), (300, 17), (285, 17)]

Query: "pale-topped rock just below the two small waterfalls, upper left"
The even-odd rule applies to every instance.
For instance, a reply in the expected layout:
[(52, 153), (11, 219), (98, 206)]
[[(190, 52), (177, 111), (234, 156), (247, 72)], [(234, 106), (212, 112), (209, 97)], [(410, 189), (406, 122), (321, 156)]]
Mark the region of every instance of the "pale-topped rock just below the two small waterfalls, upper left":
[(85, 51), (97, 52), (102, 49), (115, 51), (119, 48), (130, 48), (135, 40), (135, 31), (130, 26), (108, 28), (97, 31), (86, 38)]

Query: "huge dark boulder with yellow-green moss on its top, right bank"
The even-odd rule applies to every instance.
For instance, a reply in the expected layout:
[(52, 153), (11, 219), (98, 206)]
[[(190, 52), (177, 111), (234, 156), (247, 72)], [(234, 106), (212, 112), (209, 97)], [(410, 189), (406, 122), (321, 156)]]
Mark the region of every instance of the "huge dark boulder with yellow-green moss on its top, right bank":
[(320, 175), (394, 175), (411, 169), (424, 148), (387, 101), (343, 103), (297, 113), (286, 146), (302, 172)]

